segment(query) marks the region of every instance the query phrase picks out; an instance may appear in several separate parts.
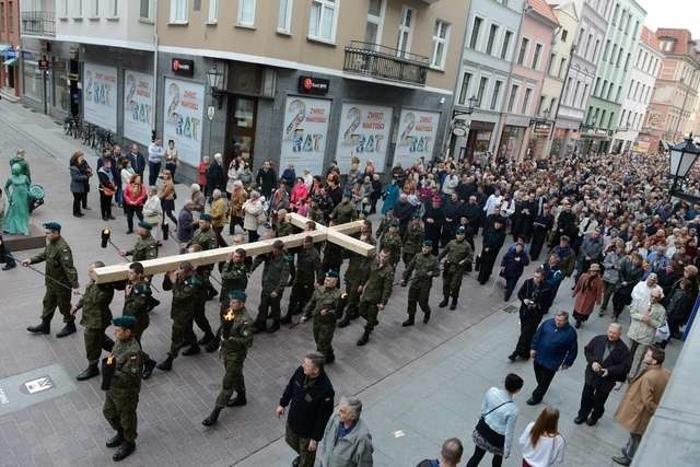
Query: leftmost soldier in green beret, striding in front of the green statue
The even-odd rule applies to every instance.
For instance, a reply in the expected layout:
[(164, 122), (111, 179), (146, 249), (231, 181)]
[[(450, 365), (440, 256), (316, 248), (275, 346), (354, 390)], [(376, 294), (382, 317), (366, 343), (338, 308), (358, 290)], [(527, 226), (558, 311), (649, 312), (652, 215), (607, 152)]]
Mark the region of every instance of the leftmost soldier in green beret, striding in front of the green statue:
[(70, 293), (79, 294), (78, 271), (73, 266), (73, 254), (68, 243), (61, 237), (61, 225), (57, 222), (44, 224), (46, 247), (44, 252), (22, 261), (22, 266), (46, 261), (46, 293), (44, 294), (42, 323), (26, 328), (34, 334), (50, 334), (50, 324), (56, 307), (63, 315), (63, 329), (56, 337), (66, 337), (75, 332), (75, 316), (70, 313)]

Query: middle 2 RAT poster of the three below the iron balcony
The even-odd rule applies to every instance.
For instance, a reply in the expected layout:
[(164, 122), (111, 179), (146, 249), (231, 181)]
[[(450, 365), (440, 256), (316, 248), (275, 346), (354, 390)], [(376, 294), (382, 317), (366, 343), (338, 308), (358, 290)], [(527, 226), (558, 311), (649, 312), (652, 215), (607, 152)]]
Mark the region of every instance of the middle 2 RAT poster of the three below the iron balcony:
[(350, 168), (352, 156), (360, 160), (360, 171), (372, 161), (376, 172), (384, 172), (386, 148), (392, 129), (392, 107), (343, 104), (336, 160), (341, 173)]

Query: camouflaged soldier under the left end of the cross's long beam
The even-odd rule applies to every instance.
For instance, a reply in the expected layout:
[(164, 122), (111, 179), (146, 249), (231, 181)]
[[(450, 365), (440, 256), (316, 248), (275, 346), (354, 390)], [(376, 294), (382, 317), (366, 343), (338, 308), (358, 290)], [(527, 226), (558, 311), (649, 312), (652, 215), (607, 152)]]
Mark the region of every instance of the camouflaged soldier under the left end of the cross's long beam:
[[(104, 262), (95, 261), (88, 268), (91, 275), (95, 268), (104, 267)], [(83, 317), (80, 319), (81, 326), (85, 328), (83, 338), (85, 340), (85, 357), (88, 357), (88, 369), (75, 376), (78, 381), (90, 380), (100, 374), (100, 355), (102, 350), (112, 351), (114, 341), (105, 335), (105, 330), (112, 322), (112, 311), (109, 303), (114, 299), (114, 287), (109, 283), (96, 284), (93, 280), (85, 288), (85, 293), (78, 304), (71, 308), (71, 314), (75, 315), (82, 308)]]

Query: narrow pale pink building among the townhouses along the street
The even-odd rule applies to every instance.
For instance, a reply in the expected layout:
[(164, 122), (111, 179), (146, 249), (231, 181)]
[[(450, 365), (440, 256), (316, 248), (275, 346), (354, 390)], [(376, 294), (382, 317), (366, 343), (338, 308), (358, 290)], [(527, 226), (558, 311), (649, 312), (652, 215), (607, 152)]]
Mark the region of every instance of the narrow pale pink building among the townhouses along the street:
[(545, 0), (527, 0), (501, 112), (498, 159), (521, 161), (528, 150), (533, 156), (541, 155), (537, 151), (544, 148), (550, 122), (534, 117), (542, 106), (542, 81), (558, 26), (557, 16)]

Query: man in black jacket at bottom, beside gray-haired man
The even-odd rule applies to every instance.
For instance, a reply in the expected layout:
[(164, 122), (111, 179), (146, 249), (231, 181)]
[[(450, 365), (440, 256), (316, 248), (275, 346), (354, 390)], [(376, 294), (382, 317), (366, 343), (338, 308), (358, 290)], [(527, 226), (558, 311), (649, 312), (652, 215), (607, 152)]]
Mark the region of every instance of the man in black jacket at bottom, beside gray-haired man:
[(335, 394), (324, 372), (324, 355), (307, 354), (290, 378), (277, 407), (277, 416), (282, 418), (289, 406), (284, 440), (299, 454), (292, 465), (313, 467), (316, 446), (332, 415)]

